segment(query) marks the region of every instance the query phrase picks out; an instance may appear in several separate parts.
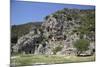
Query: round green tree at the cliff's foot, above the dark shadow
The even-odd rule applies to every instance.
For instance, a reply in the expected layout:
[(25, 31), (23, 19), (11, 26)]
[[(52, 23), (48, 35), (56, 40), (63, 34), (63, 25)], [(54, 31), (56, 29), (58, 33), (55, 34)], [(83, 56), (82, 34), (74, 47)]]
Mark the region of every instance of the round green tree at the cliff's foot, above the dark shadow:
[(80, 39), (80, 40), (77, 40), (75, 43), (74, 43), (74, 46), (76, 47), (77, 49), (77, 55), (80, 55), (83, 51), (86, 51), (88, 50), (88, 46), (89, 46), (89, 41), (86, 40), (86, 39)]

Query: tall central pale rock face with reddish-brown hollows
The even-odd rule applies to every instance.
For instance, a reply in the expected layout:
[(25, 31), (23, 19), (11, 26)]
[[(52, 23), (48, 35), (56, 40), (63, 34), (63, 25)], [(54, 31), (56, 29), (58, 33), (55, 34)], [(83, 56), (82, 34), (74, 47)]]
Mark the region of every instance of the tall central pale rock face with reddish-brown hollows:
[(62, 50), (59, 51), (57, 54), (75, 54), (73, 42), (79, 39), (79, 35), (77, 35), (77, 33), (71, 35), (72, 30), (74, 30), (74, 27), (78, 26), (75, 25), (75, 22), (76, 21), (74, 20), (58, 22), (56, 18), (50, 15), (50, 18), (48, 18), (42, 24), (42, 26), (44, 27), (44, 33), (48, 32), (47, 37), (49, 40), (51, 40), (51, 43), (49, 44), (53, 47), (62, 45)]

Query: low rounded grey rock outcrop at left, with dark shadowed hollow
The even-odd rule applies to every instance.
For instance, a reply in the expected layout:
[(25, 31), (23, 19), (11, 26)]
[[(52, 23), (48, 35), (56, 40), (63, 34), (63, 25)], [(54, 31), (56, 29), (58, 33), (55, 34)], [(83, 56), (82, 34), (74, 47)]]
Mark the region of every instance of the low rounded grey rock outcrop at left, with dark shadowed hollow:
[(47, 42), (42, 42), (42, 36), (30, 32), (18, 39), (17, 44), (13, 47), (15, 52), (25, 52), (27, 54), (50, 54)]

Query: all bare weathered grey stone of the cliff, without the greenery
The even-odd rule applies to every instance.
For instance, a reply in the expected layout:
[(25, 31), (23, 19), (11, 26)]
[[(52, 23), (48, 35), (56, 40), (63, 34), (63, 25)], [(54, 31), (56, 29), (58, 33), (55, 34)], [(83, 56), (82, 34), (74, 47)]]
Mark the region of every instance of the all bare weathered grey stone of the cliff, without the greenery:
[[(57, 46), (61, 46), (61, 51), (58, 51), (58, 55), (76, 55), (77, 50), (74, 48), (73, 43), (80, 39), (80, 32), (74, 31), (80, 27), (80, 18), (69, 17), (69, 14), (78, 14), (79, 10), (67, 10), (65, 14), (59, 14), (54, 17), (50, 15), (43, 23), (42, 30), (31, 30), (28, 34), (18, 39), (18, 42), (13, 49), (15, 52), (25, 52), (32, 54), (53, 54), (53, 49)], [(37, 32), (37, 33), (35, 33)], [(83, 36), (84, 39), (93, 40), (94, 37)], [(90, 55), (92, 50), (95, 49), (94, 43), (90, 43), (89, 50), (83, 52), (83, 54)]]

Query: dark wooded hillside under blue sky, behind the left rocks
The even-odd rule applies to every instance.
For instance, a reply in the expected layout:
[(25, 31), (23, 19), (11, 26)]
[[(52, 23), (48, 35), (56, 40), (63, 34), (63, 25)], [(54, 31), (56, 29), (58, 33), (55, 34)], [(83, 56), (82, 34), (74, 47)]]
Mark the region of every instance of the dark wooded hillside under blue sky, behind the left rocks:
[(14, 41), (14, 38), (20, 38), (21, 36), (28, 34), (32, 29), (39, 28), (41, 26), (42, 22), (29, 22), (26, 24), (20, 24), (20, 25), (11, 25), (11, 40), (12, 43)]

